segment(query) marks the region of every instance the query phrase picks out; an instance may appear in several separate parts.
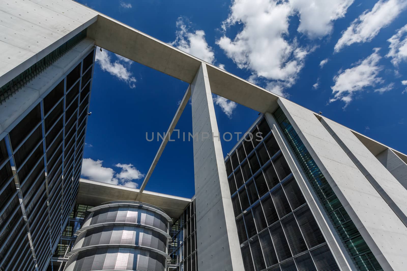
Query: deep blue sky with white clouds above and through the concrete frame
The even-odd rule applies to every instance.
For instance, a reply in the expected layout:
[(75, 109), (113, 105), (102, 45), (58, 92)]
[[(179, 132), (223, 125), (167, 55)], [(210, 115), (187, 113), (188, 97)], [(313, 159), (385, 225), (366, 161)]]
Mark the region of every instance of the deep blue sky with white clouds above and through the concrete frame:
[[(407, 153), (407, 0), (79, 2)], [(97, 50), (83, 178), (139, 186), (160, 146), (146, 132), (167, 130), (187, 87)], [(258, 117), (214, 103), (221, 133)], [(176, 128), (191, 121), (188, 104)], [(167, 144), (146, 189), (194, 195), (192, 142)]]

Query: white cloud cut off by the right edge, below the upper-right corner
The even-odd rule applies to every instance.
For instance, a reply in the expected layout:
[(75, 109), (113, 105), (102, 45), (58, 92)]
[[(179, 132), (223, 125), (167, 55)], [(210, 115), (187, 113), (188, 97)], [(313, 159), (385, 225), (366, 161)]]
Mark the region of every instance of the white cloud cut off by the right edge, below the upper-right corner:
[(393, 65), (397, 67), (401, 61), (407, 60), (407, 24), (387, 41), (390, 50), (386, 57), (391, 57)]

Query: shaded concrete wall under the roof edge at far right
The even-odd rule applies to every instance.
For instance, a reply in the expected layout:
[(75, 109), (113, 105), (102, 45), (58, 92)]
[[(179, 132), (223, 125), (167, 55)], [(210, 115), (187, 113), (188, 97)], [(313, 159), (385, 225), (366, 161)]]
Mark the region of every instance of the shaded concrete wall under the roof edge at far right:
[(376, 158), (407, 189), (407, 164), (390, 149), (379, 153)]

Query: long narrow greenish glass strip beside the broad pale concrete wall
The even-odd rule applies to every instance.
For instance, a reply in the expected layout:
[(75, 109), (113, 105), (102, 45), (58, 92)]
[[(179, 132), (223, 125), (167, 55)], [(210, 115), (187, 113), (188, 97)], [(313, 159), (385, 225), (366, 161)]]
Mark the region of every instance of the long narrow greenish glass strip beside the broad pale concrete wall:
[(274, 117), (355, 265), (362, 271), (383, 270), (281, 108)]

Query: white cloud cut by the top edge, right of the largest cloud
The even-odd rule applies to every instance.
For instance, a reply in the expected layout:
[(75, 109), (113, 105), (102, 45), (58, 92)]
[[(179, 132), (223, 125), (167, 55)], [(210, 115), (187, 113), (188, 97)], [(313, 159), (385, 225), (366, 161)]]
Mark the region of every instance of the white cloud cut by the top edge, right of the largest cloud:
[(300, 16), (298, 32), (311, 38), (323, 37), (333, 30), (333, 21), (344, 17), (354, 0), (290, 0)]

